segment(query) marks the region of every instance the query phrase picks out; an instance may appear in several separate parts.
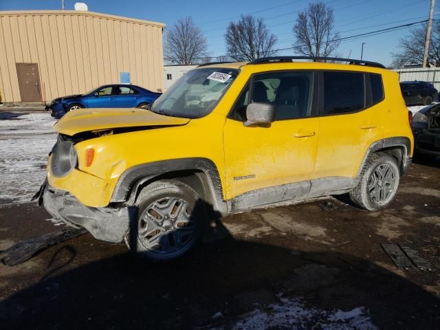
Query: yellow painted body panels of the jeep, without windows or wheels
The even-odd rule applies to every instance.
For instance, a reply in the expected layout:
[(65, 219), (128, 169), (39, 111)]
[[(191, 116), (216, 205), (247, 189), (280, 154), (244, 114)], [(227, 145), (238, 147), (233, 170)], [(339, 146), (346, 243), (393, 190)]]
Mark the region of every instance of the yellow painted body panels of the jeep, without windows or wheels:
[[(55, 129), (66, 135), (122, 126), (178, 126), (79, 142), (75, 146), (78, 169), (61, 178), (49, 173), (50, 185), (68, 190), (87, 206), (107, 206), (126, 169), (166, 159), (204, 157), (217, 166), (223, 196), (232, 199), (250, 190), (305, 179), (355, 177), (367, 148), (384, 137), (408, 137), (413, 145), (408, 110), (394, 72), (329, 63), (217, 66), (239, 68), (241, 73), (217, 107), (203, 118), (173, 118), (137, 109), (83, 109), (65, 115)], [(292, 69), (379, 73), (384, 80), (386, 97), (383, 102), (358, 113), (283, 120), (267, 128), (245, 127), (227, 118), (252, 74)], [(94, 162), (89, 167), (85, 167), (87, 148), (95, 149)], [(234, 180), (234, 177), (248, 175), (254, 177)]]

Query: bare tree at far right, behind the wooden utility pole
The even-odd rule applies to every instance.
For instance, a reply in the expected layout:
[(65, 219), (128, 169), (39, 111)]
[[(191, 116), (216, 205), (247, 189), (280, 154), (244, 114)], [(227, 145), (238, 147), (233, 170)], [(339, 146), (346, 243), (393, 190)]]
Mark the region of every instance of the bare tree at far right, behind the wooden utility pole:
[[(423, 63), (425, 47), (426, 23), (410, 30), (408, 36), (399, 40), (400, 52), (391, 54), (391, 66), (398, 69), (406, 64)], [(432, 26), (432, 34), (428, 50), (428, 63), (440, 66), (440, 22)]]

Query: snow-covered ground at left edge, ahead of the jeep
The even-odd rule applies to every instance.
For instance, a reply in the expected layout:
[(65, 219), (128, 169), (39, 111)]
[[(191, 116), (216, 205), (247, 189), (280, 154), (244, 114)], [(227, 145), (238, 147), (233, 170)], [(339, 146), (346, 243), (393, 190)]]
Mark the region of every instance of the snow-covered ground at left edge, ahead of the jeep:
[[(20, 118), (20, 119), (17, 119)], [(0, 120), (0, 203), (25, 203), (45, 179), (47, 155), (56, 142), (48, 113)]]

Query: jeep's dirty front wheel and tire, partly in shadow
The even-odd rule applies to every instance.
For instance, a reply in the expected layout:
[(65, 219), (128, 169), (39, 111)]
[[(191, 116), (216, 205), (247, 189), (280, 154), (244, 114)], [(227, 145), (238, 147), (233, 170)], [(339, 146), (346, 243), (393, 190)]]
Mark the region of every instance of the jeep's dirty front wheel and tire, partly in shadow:
[(179, 258), (199, 243), (206, 208), (187, 184), (155, 181), (142, 189), (136, 206), (137, 217), (124, 239), (131, 252), (162, 263)]

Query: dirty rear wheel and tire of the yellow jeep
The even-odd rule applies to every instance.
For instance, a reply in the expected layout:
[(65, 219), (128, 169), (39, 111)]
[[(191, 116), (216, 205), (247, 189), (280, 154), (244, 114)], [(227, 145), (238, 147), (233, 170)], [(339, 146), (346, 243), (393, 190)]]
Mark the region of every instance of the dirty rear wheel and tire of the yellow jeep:
[[(385, 174), (378, 175), (387, 170)], [(357, 206), (369, 211), (386, 208), (393, 201), (399, 187), (400, 170), (395, 158), (375, 153), (366, 160), (361, 179), (350, 192)]]

